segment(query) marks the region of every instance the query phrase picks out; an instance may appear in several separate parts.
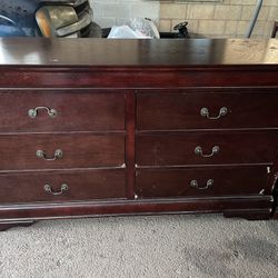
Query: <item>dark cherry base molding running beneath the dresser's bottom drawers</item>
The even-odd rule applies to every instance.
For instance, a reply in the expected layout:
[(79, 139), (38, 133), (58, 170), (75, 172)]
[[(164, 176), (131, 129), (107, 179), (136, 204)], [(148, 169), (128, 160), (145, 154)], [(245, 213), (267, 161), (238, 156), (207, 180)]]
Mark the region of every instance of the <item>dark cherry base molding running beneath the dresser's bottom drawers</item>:
[[(232, 217), (270, 217), (271, 197), (260, 198), (192, 198), (183, 200), (123, 200), (115, 202), (70, 202), (12, 205), (0, 207), (1, 221), (34, 221), (43, 219), (82, 218), (125, 215), (225, 214)], [(268, 217), (268, 218), (269, 218)], [(255, 217), (254, 217), (255, 218)]]

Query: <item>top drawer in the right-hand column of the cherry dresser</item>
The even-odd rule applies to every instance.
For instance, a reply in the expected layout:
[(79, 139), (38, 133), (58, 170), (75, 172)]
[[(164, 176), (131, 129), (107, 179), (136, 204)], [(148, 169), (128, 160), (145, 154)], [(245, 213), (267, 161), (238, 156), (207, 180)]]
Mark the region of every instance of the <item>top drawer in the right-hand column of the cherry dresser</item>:
[(139, 130), (277, 128), (277, 89), (139, 93), (137, 127)]

